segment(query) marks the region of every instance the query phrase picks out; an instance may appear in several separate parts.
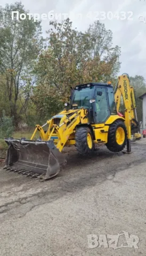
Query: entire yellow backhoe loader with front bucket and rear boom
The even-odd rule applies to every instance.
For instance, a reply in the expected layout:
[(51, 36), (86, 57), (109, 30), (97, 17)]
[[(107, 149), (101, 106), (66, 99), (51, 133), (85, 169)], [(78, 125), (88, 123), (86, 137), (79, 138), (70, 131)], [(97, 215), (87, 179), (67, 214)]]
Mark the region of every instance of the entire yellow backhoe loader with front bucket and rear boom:
[[(121, 98), (124, 114), (119, 113)], [(61, 153), (64, 146), (75, 145), (84, 156), (93, 153), (95, 144), (105, 144), (113, 152), (123, 151), (127, 145), (130, 153), (131, 131), (137, 124), (134, 91), (127, 74), (118, 77), (115, 91), (110, 82), (77, 85), (71, 102), (43, 126), (36, 125), (30, 140), (5, 139), (9, 149), (4, 169), (45, 180), (58, 174), (66, 163)]]

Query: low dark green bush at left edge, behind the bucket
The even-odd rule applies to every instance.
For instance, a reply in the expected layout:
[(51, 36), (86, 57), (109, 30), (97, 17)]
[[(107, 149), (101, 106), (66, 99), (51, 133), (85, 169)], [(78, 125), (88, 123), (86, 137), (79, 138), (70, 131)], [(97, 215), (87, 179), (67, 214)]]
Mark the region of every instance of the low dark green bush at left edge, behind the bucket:
[(13, 131), (13, 117), (6, 116), (3, 110), (3, 115), (0, 118), (0, 138), (11, 137)]

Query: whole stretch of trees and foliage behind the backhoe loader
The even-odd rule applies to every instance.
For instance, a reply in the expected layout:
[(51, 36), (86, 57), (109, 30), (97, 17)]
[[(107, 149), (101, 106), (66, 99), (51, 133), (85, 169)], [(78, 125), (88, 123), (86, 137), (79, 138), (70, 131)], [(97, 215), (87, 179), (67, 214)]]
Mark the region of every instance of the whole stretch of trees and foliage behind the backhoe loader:
[[(113, 46), (112, 31), (103, 23), (96, 21), (83, 33), (73, 29), (69, 19), (54, 20), (44, 39), (40, 21), (28, 15), (25, 20), (12, 20), (12, 11), (29, 13), (21, 2), (0, 6), (1, 137), (12, 134), (12, 121), (14, 126), (21, 121), (29, 127), (45, 123), (63, 109), (70, 87), (107, 81), (116, 85), (120, 47)], [(142, 76), (130, 79), (141, 121), (139, 96), (145, 92), (145, 80)]]

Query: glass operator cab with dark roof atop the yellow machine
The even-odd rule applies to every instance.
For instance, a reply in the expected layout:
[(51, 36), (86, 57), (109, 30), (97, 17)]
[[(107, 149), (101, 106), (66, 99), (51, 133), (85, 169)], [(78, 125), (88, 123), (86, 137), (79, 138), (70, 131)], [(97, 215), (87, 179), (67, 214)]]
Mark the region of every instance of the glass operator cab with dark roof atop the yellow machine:
[(104, 123), (110, 115), (116, 115), (113, 86), (109, 83), (77, 85), (72, 94), (72, 108), (86, 108), (90, 123)]

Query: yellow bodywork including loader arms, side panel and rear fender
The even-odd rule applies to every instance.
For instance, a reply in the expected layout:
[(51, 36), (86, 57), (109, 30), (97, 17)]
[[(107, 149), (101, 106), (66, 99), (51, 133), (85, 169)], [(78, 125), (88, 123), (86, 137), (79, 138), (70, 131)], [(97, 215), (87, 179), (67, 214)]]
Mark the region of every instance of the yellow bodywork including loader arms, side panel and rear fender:
[[(68, 114), (72, 114), (70, 119), (70, 125), (66, 128), (68, 122)], [(85, 117), (85, 118), (84, 118)], [(54, 124), (55, 118), (60, 119), (59, 125)], [(94, 143), (98, 144), (106, 144), (108, 142), (108, 130), (110, 124), (115, 122), (117, 119), (121, 119), (125, 121), (123, 117), (119, 117), (118, 115), (110, 116), (107, 121), (103, 124), (92, 124), (88, 125), (88, 118), (86, 117), (85, 110), (79, 109), (74, 111), (63, 110), (58, 115), (54, 116), (53, 119), (47, 121), (48, 130), (44, 132), (43, 127), (40, 125), (36, 125), (36, 129), (34, 134), (31, 137), (31, 140), (34, 139), (35, 134), (39, 131), (40, 138), (43, 141), (48, 141), (53, 139), (56, 148), (61, 152), (64, 146), (76, 145), (75, 141), (75, 133), (76, 126), (78, 124), (88, 125), (90, 129), (92, 129), (94, 133)], [(61, 127), (59, 127), (61, 126)]]

